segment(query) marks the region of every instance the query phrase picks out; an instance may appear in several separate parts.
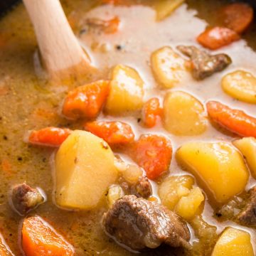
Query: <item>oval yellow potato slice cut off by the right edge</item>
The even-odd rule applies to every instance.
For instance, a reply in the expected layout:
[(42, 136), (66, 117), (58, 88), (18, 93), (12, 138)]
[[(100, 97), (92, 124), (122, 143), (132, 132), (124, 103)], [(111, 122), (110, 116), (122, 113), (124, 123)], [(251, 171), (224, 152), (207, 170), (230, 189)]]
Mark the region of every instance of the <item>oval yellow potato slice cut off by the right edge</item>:
[(251, 73), (238, 70), (225, 75), (221, 85), (224, 92), (242, 102), (256, 104), (256, 78)]

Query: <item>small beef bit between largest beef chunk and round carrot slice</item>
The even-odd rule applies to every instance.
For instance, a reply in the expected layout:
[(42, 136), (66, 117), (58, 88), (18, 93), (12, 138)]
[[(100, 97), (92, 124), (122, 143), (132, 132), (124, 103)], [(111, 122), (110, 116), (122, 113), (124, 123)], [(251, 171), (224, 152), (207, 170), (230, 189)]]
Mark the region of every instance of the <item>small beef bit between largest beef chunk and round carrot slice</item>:
[(145, 176), (141, 176), (139, 181), (132, 186), (131, 194), (137, 197), (148, 198), (152, 194), (152, 187), (149, 179)]

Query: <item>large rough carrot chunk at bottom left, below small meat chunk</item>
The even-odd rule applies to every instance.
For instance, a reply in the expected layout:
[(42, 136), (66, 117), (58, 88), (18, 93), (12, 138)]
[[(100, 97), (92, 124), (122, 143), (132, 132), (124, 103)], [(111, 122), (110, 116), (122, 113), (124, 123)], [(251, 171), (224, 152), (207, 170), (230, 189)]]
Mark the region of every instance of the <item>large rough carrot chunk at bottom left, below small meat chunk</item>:
[(23, 221), (21, 246), (26, 256), (74, 255), (73, 246), (38, 216)]

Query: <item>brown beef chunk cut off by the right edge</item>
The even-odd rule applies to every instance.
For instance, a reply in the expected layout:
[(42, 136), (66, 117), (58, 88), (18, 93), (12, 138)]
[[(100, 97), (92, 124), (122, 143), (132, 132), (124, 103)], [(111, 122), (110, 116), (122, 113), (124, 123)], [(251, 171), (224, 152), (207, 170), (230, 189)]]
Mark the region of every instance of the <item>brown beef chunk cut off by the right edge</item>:
[(256, 186), (250, 190), (250, 198), (245, 209), (239, 213), (237, 218), (242, 225), (256, 226)]

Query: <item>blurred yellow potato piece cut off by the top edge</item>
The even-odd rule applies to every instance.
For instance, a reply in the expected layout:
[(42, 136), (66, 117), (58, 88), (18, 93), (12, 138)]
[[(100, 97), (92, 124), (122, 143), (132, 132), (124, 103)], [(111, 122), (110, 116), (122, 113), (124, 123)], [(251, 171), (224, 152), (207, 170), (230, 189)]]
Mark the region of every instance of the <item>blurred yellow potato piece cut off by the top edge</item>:
[(154, 9), (156, 10), (156, 19), (163, 20), (169, 16), (178, 6), (183, 4), (185, 0), (161, 0), (154, 1)]

